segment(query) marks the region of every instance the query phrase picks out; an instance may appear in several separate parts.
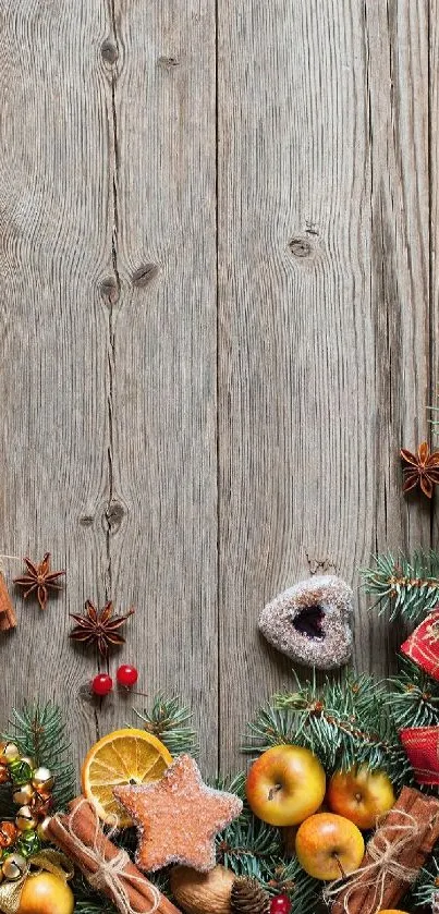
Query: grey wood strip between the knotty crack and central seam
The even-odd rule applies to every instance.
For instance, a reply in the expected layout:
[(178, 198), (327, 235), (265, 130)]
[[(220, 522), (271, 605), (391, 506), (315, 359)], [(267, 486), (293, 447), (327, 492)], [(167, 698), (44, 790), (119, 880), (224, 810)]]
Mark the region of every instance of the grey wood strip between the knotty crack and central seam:
[[(118, 296), (108, 316), (108, 569), (118, 605), (136, 607), (111, 672), (134, 661), (142, 691), (179, 692), (214, 771), (215, 4), (117, 2), (109, 41)], [(121, 714), (123, 695), (106, 703), (102, 727)]]

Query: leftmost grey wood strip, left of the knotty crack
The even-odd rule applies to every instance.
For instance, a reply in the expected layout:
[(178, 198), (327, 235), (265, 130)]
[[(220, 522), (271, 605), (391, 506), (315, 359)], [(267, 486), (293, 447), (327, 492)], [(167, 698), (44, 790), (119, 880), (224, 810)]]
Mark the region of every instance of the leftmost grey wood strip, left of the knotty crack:
[[(96, 739), (80, 697), (88, 663), (69, 612), (106, 566), (106, 305), (111, 268), (108, 88), (101, 4), (0, 5), (0, 552), (68, 570), (45, 612), (15, 593), (16, 631), (0, 639), (9, 708), (47, 698), (65, 710), (78, 760)], [(5, 560), (9, 583), (22, 563)]]

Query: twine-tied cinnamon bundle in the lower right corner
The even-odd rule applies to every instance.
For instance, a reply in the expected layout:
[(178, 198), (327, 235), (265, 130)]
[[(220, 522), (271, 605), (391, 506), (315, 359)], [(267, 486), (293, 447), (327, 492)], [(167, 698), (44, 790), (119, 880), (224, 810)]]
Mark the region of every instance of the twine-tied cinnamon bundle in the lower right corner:
[(404, 787), (370, 838), (361, 869), (341, 887), (332, 914), (377, 914), (398, 907), (438, 838), (439, 801)]

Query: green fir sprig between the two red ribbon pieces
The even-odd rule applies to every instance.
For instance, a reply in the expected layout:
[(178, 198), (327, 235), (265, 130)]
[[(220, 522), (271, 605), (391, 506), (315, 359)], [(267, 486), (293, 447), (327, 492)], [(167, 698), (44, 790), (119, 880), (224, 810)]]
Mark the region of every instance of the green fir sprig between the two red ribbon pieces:
[(401, 658), (398, 677), (389, 679), (386, 704), (397, 730), (439, 726), (439, 682), (407, 658)]

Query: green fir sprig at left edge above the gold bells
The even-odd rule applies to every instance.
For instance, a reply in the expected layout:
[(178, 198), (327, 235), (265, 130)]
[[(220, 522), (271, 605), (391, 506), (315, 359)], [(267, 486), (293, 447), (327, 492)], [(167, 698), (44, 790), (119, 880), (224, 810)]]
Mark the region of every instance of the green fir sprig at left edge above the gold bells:
[(4, 739), (14, 742), (36, 766), (50, 769), (54, 776), (54, 808), (64, 807), (75, 796), (75, 777), (60, 708), (51, 703), (25, 705), (21, 711), (14, 709), (11, 717), (11, 732)]

